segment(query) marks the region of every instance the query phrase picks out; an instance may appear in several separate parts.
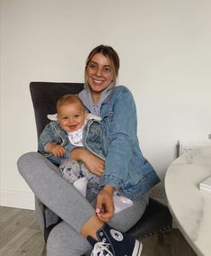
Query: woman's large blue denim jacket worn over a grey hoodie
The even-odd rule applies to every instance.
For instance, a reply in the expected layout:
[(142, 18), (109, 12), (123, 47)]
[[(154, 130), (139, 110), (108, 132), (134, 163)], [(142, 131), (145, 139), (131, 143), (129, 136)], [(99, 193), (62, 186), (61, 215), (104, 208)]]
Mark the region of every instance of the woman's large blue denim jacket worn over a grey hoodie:
[[(87, 87), (79, 96), (90, 103)], [(86, 104), (87, 103), (87, 104)], [(101, 128), (104, 138), (105, 170), (100, 186), (110, 185), (132, 200), (145, 195), (158, 178), (153, 166), (143, 156), (136, 135), (136, 104), (127, 87), (111, 89), (101, 104)]]

